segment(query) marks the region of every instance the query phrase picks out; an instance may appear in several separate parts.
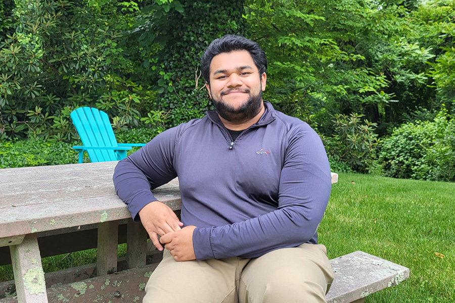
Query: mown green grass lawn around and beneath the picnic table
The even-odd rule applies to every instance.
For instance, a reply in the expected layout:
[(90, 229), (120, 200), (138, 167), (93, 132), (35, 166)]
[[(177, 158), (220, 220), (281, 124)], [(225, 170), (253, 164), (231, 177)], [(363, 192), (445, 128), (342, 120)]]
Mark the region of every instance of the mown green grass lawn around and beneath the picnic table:
[[(362, 250), (410, 268), (408, 280), (368, 296), (367, 303), (455, 302), (454, 192), (455, 183), (339, 174), (319, 241), (330, 259)], [(44, 258), (43, 267), (94, 261), (93, 249)], [(10, 279), (11, 267), (0, 267), (0, 281)]]

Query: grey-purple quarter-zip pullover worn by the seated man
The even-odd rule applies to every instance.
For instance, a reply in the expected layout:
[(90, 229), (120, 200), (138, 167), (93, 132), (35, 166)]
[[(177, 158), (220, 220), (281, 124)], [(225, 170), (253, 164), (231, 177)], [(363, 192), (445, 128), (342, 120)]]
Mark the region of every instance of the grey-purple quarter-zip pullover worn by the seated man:
[(319, 135), (264, 102), (235, 141), (216, 111), (164, 131), (120, 161), (114, 184), (134, 221), (150, 189), (178, 176), (181, 222), (194, 225), (196, 259), (255, 258), (317, 243), (331, 175)]

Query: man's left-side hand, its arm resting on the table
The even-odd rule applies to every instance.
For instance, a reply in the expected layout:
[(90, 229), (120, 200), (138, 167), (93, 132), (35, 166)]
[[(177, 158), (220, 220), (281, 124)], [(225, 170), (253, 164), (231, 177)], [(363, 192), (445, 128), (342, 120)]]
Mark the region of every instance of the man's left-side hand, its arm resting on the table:
[(170, 207), (160, 201), (147, 204), (139, 211), (139, 217), (153, 244), (160, 251), (163, 250), (163, 246), (158, 241), (158, 235), (163, 236), (166, 233), (180, 230), (180, 227), (183, 226)]

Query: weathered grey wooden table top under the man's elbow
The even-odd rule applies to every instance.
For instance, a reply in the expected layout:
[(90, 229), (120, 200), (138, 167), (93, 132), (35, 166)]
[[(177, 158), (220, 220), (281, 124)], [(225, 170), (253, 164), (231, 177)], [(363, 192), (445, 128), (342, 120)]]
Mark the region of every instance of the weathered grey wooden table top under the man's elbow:
[[(0, 169), (0, 238), (130, 218), (112, 182), (116, 164)], [(153, 192), (180, 209), (177, 179)]]

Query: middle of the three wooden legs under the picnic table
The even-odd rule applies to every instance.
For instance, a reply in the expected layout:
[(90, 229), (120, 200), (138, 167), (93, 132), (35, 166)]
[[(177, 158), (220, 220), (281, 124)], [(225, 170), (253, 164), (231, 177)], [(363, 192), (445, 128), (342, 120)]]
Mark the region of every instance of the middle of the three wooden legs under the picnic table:
[(117, 271), (118, 221), (98, 223), (97, 275)]

